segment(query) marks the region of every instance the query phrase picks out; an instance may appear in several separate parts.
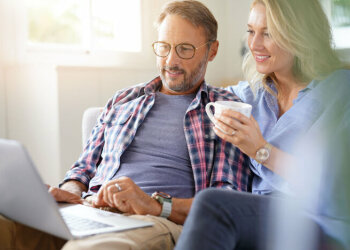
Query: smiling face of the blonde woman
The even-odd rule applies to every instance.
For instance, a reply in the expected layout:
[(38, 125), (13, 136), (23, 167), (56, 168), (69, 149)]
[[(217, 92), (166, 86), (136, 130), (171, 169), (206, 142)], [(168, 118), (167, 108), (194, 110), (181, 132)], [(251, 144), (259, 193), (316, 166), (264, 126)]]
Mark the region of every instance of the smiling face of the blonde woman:
[(281, 49), (271, 38), (266, 23), (266, 9), (263, 4), (255, 4), (248, 19), (248, 46), (256, 62), (256, 70), (261, 74), (292, 73), (293, 55)]

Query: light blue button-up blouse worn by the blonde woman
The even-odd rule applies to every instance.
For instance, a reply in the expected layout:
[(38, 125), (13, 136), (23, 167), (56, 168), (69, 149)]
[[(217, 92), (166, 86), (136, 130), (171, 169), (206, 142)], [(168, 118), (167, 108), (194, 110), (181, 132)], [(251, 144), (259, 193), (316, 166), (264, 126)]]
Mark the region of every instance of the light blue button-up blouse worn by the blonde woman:
[[(273, 84), (270, 87), (276, 91)], [(350, 249), (350, 70), (311, 81), (279, 118), (276, 97), (262, 86), (255, 95), (247, 82), (227, 89), (253, 106), (252, 115), (265, 140), (295, 155), (302, 171), (295, 190), (252, 159), (256, 174), (252, 192), (295, 194), (305, 214)]]

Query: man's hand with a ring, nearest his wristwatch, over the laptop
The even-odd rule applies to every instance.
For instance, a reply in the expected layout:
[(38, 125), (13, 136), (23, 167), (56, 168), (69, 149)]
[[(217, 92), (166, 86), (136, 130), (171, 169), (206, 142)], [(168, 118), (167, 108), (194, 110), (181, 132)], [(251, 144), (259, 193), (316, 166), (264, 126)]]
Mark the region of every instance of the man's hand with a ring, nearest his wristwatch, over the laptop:
[(106, 204), (129, 214), (158, 216), (162, 210), (161, 205), (157, 201), (143, 192), (128, 177), (109, 181), (100, 188), (93, 205), (95, 207), (103, 207)]

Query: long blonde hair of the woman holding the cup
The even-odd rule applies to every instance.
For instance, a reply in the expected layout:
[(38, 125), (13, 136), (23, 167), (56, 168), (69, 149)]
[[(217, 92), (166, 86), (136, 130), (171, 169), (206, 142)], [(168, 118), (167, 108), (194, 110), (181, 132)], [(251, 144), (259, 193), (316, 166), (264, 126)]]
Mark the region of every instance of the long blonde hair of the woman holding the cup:
[[(277, 45), (294, 55), (293, 74), (297, 81), (322, 80), (343, 67), (332, 45), (331, 27), (318, 0), (254, 0), (266, 8), (267, 28)], [(253, 89), (274, 75), (256, 71), (251, 53), (243, 61), (243, 72)], [(278, 86), (276, 86), (278, 88)]]

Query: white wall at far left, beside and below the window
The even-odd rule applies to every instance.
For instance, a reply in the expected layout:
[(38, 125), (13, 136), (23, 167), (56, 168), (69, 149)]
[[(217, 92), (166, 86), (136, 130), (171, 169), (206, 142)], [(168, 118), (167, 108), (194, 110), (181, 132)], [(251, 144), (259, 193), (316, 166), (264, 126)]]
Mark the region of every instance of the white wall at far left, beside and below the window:
[(56, 72), (25, 62), (25, 2), (0, 0), (0, 136), (22, 142), (50, 184), (59, 180)]

